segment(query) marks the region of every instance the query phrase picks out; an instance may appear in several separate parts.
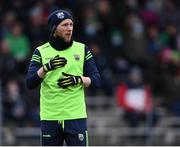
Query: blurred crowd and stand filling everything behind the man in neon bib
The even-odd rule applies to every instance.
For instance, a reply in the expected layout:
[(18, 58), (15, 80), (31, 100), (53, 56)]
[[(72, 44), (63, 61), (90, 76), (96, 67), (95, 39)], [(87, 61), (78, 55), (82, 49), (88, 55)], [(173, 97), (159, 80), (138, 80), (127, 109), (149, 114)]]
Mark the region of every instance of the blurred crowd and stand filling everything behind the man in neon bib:
[(179, 0), (0, 0), (0, 145), (40, 145), (25, 78), (56, 9), (73, 13), (102, 77), (86, 90), (89, 144), (180, 145)]

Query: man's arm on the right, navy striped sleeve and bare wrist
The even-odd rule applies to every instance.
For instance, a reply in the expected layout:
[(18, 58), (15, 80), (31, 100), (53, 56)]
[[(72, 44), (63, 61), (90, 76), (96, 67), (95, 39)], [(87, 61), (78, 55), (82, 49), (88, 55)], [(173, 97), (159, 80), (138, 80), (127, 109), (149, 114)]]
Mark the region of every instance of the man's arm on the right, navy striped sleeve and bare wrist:
[(101, 85), (99, 71), (87, 46), (85, 46), (84, 75), (81, 78), (85, 87), (100, 87)]

